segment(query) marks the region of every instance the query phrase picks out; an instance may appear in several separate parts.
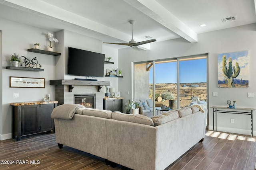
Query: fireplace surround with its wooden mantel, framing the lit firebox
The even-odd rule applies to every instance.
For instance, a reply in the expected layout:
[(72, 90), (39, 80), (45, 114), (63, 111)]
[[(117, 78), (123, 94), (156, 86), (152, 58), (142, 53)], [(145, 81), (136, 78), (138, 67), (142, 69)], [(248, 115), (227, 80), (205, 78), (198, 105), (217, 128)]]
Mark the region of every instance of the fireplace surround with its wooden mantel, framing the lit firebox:
[(110, 82), (50, 80), (50, 85), (55, 85), (55, 100), (58, 101), (58, 105), (74, 104), (74, 94), (95, 94), (95, 108), (103, 109), (104, 90), (100, 89), (102, 86), (109, 86)]

